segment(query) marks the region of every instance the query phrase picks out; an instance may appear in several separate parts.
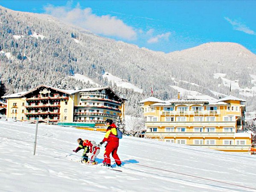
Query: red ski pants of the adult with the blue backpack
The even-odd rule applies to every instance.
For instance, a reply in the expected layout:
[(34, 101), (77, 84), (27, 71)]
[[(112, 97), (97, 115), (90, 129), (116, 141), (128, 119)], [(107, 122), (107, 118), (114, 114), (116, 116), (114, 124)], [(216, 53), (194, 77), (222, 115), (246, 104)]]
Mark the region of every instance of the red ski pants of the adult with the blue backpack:
[(119, 146), (119, 142), (116, 142), (116, 141), (111, 141), (107, 144), (105, 152), (104, 152), (103, 163), (110, 165), (111, 164), (110, 154), (112, 154), (112, 157), (116, 161), (116, 165), (121, 165), (122, 162), (120, 161), (120, 159), (117, 155), (118, 146)]

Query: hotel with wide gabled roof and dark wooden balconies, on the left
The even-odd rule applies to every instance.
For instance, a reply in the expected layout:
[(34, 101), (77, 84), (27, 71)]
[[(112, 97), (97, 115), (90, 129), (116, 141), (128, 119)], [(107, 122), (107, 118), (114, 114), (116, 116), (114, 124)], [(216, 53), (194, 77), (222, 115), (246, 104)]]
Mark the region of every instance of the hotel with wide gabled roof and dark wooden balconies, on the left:
[(7, 118), (81, 127), (104, 126), (106, 119), (123, 119), (125, 99), (110, 87), (61, 90), (40, 85), (2, 98)]

